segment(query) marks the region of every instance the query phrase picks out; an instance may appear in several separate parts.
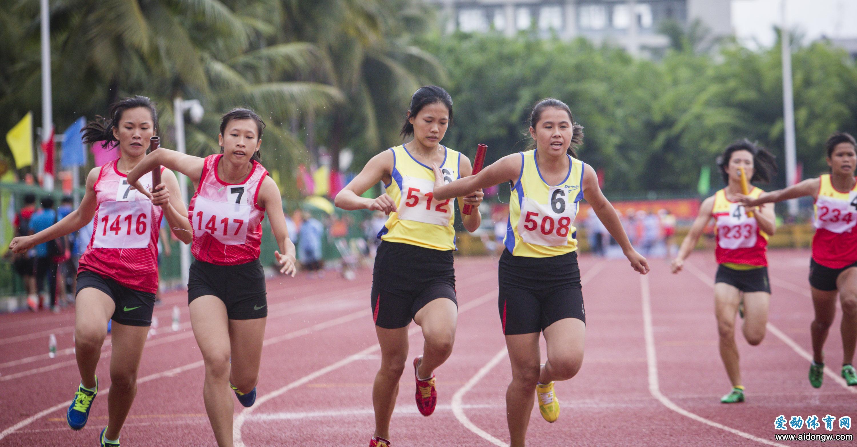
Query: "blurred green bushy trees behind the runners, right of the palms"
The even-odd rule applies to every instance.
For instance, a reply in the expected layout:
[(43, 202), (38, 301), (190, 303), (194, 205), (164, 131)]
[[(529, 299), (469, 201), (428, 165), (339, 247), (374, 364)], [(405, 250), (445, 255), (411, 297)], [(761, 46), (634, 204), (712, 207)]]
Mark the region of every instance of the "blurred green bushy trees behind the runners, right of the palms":
[[(693, 191), (700, 167), (739, 138), (758, 140), (782, 162), (782, 75), (778, 44), (748, 50), (723, 43), (702, 52), (705, 32), (671, 31), (675, 48), (658, 61), (624, 50), (524, 33), (434, 35), (423, 47), (449, 71), (455, 122), (446, 144), (473, 155), (488, 144), (489, 161), (524, 150), (529, 112), (557, 97), (584, 126), (578, 155), (604, 169), (608, 191)], [(826, 171), (824, 140), (857, 131), (857, 67), (844, 51), (817, 42), (794, 45), (798, 159), (805, 175)], [(716, 172), (716, 171), (713, 171)], [(719, 175), (713, 175), (719, 181)]]

